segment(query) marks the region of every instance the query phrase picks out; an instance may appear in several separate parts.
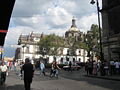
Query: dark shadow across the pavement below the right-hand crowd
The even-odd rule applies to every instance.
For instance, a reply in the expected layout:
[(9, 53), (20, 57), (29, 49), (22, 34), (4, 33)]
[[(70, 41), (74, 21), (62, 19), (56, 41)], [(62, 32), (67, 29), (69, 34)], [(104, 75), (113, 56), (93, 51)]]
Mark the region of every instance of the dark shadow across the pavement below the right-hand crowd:
[(64, 74), (61, 74), (61, 77), (67, 79), (87, 82), (90, 85), (100, 86), (100, 87), (108, 88), (110, 90), (120, 90), (120, 81), (85, 77), (83, 76), (82, 73), (80, 73), (80, 71), (73, 71), (73, 72), (63, 71), (62, 73)]

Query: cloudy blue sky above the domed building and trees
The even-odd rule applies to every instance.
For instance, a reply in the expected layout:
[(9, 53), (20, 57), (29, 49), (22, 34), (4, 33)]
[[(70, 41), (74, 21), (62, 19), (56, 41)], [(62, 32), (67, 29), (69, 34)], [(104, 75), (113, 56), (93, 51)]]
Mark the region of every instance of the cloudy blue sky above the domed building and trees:
[[(91, 0), (16, 0), (5, 40), (6, 56), (14, 55), (11, 45), (17, 45), (21, 34), (38, 32), (63, 36), (70, 28), (73, 16), (82, 32), (97, 24), (96, 5)], [(96, 0), (95, 0), (96, 1)], [(101, 6), (101, 0), (99, 0)], [(10, 50), (13, 50), (11, 54)]]

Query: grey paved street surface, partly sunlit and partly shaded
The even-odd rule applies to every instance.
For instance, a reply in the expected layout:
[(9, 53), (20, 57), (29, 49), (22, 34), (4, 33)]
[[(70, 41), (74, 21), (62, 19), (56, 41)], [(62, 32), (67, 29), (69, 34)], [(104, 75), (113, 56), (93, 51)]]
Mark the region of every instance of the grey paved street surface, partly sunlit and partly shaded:
[[(60, 77), (40, 76), (35, 72), (32, 90), (119, 90), (120, 82), (82, 76), (82, 71), (60, 71)], [(48, 73), (47, 73), (48, 74)], [(24, 90), (23, 80), (11, 72), (0, 90)]]

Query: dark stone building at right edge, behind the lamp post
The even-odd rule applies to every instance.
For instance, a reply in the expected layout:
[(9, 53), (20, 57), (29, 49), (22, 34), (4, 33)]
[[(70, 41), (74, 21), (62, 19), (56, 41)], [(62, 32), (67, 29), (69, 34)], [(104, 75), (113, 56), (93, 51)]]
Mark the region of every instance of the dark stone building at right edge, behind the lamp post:
[(102, 0), (105, 60), (120, 60), (120, 0)]

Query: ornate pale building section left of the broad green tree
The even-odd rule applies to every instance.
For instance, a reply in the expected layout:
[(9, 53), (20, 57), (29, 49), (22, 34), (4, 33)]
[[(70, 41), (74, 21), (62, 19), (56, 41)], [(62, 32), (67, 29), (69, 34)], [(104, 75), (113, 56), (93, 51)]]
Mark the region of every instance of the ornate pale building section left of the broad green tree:
[(38, 54), (39, 47), (37, 43), (43, 37), (43, 34), (30, 33), (29, 35), (20, 35), (18, 39), (18, 45), (21, 47), (16, 49), (15, 59), (25, 60), (25, 58), (39, 59), (41, 56)]

